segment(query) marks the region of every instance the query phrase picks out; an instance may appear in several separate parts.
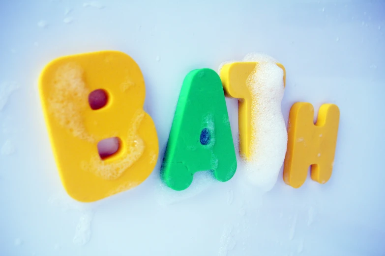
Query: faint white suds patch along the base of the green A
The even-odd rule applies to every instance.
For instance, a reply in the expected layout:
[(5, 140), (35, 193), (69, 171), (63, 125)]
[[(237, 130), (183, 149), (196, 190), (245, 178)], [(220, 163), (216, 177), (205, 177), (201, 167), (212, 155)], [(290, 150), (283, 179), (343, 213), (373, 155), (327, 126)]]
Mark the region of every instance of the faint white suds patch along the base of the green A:
[(194, 179), (188, 188), (175, 191), (159, 179), (159, 185), (155, 187), (154, 191), (155, 199), (159, 205), (172, 205), (202, 193), (215, 182), (217, 181), (212, 177), (211, 172), (197, 172), (194, 174)]

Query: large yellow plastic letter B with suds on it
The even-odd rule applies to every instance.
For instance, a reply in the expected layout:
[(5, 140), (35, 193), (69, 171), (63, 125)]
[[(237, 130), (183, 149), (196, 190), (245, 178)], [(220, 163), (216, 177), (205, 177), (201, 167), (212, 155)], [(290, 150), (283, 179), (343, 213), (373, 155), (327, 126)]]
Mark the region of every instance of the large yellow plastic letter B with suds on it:
[[(152, 172), (158, 137), (143, 110), (145, 82), (136, 62), (119, 51), (64, 56), (49, 63), (40, 97), (59, 175), (67, 193), (93, 202), (135, 187)], [(89, 106), (89, 93), (104, 89), (107, 104)], [(97, 143), (118, 137), (118, 152), (99, 157)]]

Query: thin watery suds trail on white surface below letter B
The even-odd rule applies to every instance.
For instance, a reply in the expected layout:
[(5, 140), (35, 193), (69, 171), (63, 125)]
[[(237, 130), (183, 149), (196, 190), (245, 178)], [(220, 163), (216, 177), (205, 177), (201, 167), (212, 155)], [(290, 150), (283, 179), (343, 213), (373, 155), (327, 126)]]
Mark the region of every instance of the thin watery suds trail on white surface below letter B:
[(95, 205), (95, 203), (82, 204), (70, 198), (64, 191), (51, 196), (48, 202), (63, 211), (71, 210), (80, 213), (72, 241), (78, 246), (87, 244), (91, 239), (91, 223), (95, 212), (92, 205)]

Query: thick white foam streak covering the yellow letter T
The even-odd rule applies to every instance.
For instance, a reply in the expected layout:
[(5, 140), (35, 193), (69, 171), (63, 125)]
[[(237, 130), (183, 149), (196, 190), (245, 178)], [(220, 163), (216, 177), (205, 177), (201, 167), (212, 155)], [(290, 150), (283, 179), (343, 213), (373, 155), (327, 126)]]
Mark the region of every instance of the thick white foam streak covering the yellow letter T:
[(250, 157), (245, 163), (246, 176), (261, 191), (267, 192), (278, 179), (287, 148), (287, 130), (281, 112), (284, 73), (277, 61), (267, 55), (249, 53), (242, 61), (258, 62), (246, 80), (252, 97), (251, 125), (254, 133)]

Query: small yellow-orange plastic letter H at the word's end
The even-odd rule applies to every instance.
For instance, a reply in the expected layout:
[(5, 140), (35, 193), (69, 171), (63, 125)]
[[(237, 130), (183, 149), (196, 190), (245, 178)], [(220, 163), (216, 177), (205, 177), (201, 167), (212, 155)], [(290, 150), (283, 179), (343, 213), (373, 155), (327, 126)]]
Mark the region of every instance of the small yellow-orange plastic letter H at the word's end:
[(288, 148), (283, 171), (286, 184), (298, 188), (306, 180), (311, 165), (311, 179), (326, 183), (334, 164), (340, 111), (335, 104), (323, 104), (314, 125), (314, 108), (297, 102), (290, 109)]

